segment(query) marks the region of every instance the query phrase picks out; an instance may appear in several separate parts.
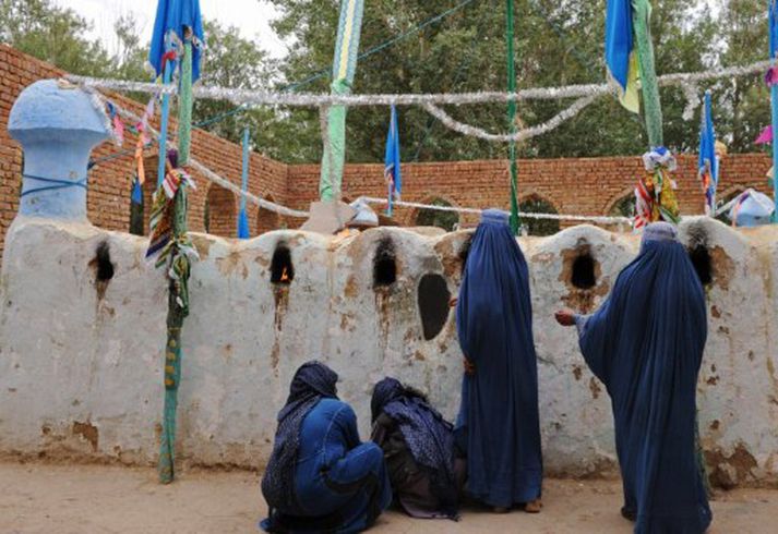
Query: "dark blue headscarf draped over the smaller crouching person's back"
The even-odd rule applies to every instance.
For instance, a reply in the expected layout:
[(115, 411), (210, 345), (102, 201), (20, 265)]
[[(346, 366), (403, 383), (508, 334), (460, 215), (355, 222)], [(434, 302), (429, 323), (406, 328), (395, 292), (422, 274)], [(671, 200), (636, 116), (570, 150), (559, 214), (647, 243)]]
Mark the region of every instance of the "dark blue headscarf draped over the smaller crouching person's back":
[(397, 424), (414, 460), (429, 474), (430, 490), (441, 511), (456, 518), (458, 487), (453, 425), (432, 408), (423, 393), (390, 377), (373, 388), (370, 411), (373, 422), (383, 413)]

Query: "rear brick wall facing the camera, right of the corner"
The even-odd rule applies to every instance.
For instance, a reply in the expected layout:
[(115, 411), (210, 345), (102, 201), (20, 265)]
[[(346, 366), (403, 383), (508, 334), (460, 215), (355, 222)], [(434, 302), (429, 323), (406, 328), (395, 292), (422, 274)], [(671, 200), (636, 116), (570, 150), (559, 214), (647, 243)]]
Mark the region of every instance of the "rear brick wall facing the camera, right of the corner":
[[(770, 168), (765, 154), (733, 154), (721, 163), (719, 198), (735, 191), (755, 187), (771, 194), (765, 178)], [(565, 215), (609, 215), (624, 196), (633, 194), (643, 170), (638, 157), (532, 159), (518, 162), (519, 201), (540, 197)], [(702, 214), (704, 199), (697, 181), (697, 157), (679, 156), (678, 197), (685, 215)], [(319, 166), (290, 166), (288, 197), (292, 207), (304, 208), (319, 187)], [(349, 165), (344, 173), (344, 198), (386, 196), (383, 165)], [(403, 197), (428, 203), (442, 198), (459, 207), (510, 206), (507, 161), (458, 161), (408, 163), (403, 166)], [(415, 224), (416, 209), (397, 209), (396, 218), (405, 226)], [(463, 224), (477, 222), (466, 215)]]

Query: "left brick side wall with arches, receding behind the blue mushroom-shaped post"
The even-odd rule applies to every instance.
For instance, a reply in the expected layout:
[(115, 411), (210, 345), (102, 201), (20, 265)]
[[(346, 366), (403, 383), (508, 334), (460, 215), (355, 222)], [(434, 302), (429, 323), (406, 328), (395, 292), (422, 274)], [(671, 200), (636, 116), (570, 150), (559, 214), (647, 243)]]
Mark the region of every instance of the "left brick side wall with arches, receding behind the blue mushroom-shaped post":
[[(11, 107), (19, 94), (32, 83), (60, 77), (63, 72), (35, 58), (23, 54), (5, 45), (0, 45), (0, 254), (2, 254), (5, 232), (16, 216), (22, 174), (21, 146), (8, 134), (8, 118)], [(143, 112), (143, 105), (110, 95), (111, 99), (137, 114)], [(154, 124), (158, 128), (158, 123)], [(172, 118), (170, 131), (176, 131), (176, 120)], [(93, 159), (108, 156), (123, 148), (135, 145), (136, 138), (127, 133), (122, 148), (107, 142), (97, 147)], [(222, 177), (240, 184), (242, 149), (239, 145), (229, 143), (207, 132), (195, 130), (192, 135), (193, 157)], [(156, 182), (157, 157), (156, 147), (146, 151), (145, 168), (148, 179), (144, 187), (146, 199), (146, 219), (148, 218), (149, 199)], [(89, 190), (87, 193), (87, 210), (89, 220), (109, 230), (128, 231), (130, 228), (130, 193), (131, 180), (134, 174), (132, 155), (106, 161), (89, 171)], [(251, 155), (249, 191), (259, 196), (271, 195), (279, 203), (286, 203), (287, 166), (267, 159), (260, 154)], [(203, 215), (205, 201), (211, 191), (211, 183), (203, 177), (193, 173), (198, 190), (190, 197), (190, 229), (204, 230)], [(230, 219), (222, 217), (217, 228), (213, 229), (222, 235), (235, 236), (237, 233), (238, 198), (228, 191), (217, 195), (222, 206), (231, 204)], [(248, 205), (250, 228), (258, 226), (259, 210), (252, 204)], [(146, 222), (146, 231), (148, 223)]]

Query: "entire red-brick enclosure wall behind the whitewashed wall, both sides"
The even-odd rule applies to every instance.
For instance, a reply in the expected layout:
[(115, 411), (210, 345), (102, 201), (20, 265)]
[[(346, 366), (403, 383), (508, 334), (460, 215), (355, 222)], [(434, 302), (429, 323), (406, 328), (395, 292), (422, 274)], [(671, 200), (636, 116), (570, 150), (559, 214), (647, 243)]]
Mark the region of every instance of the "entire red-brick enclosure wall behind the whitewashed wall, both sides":
[[(0, 254), (5, 231), (16, 215), (22, 172), (22, 154), (17, 143), (7, 131), (8, 116), (19, 94), (27, 85), (41, 78), (59, 77), (62, 71), (37, 59), (0, 45)], [(143, 106), (121, 96), (111, 98), (122, 107), (142, 113)], [(176, 131), (172, 118), (170, 131)], [(135, 138), (128, 132), (124, 147), (134, 146)], [(119, 148), (104, 143), (93, 158), (115, 154)], [(192, 154), (208, 168), (240, 184), (241, 147), (195, 130), (192, 135)], [(156, 153), (152, 147), (145, 155), (149, 179), (144, 187), (148, 201), (156, 179)], [(701, 214), (703, 196), (696, 180), (696, 157), (680, 156), (675, 173), (679, 199), (683, 214)], [(770, 167), (764, 154), (728, 156), (721, 165), (719, 197), (734, 191), (755, 186), (767, 191), (765, 173)], [(518, 187), (522, 199), (540, 197), (554, 206), (560, 214), (608, 215), (613, 205), (632, 194), (635, 178), (642, 172), (638, 157), (522, 160)], [(100, 163), (89, 172), (87, 208), (89, 219), (98, 227), (128, 231), (130, 224), (130, 189), (134, 173), (131, 155)], [(239, 199), (203, 177), (194, 173), (199, 185), (190, 201), (190, 229), (204, 231), (206, 199), (211, 197), (211, 231), (225, 236), (237, 232)], [(403, 166), (404, 199), (427, 203), (442, 198), (460, 207), (508, 207), (507, 163), (504, 160), (410, 163)], [(256, 153), (251, 155), (249, 191), (279, 204), (307, 209), (318, 198), (319, 166), (287, 166)], [(769, 192), (768, 192), (769, 193)], [(361, 195), (385, 196), (383, 165), (348, 165), (344, 174), (344, 198), (352, 201)], [(146, 203), (149, 206), (149, 203)], [(146, 208), (147, 210), (148, 208)], [(398, 221), (415, 224), (417, 210), (397, 209)], [(145, 214), (146, 218), (148, 214)], [(475, 216), (460, 219), (464, 226), (474, 224)], [(249, 204), (250, 229), (256, 233), (280, 226), (296, 227), (299, 219), (278, 217)], [(146, 223), (147, 231), (147, 223)]]

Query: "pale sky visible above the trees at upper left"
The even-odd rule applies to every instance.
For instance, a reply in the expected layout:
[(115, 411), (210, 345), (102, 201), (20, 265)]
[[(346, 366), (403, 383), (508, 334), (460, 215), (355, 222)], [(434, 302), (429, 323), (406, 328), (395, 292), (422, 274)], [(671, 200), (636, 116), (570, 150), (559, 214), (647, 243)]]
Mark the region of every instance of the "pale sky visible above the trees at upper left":
[[(113, 23), (121, 15), (132, 13), (139, 22), (144, 39), (151, 40), (156, 0), (53, 0), (62, 8), (71, 8), (93, 25), (89, 37), (99, 39), (115, 51), (118, 44)], [(286, 56), (287, 46), (270, 26), (277, 12), (261, 0), (200, 0), (204, 19), (218, 21), (223, 26), (236, 26), (247, 38), (255, 38), (273, 58)]]

